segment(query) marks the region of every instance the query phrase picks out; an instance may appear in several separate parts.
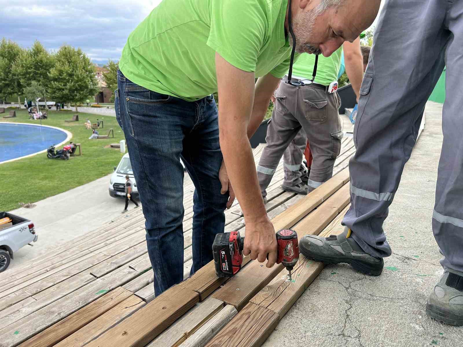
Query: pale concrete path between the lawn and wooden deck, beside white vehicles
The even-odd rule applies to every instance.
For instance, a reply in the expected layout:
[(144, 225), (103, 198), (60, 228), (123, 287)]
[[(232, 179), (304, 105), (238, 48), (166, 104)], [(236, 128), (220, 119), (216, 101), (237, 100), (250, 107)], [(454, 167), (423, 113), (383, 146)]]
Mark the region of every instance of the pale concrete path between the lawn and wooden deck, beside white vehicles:
[[(99, 228), (111, 218), (119, 216), (125, 200), (109, 196), (111, 175), (94, 180), (83, 186), (38, 201), (31, 209), (11, 211), (29, 218), (35, 225), (38, 241), (24, 246), (14, 254), (9, 268), (19, 266), (53, 248)], [(129, 203), (129, 211), (133, 208)]]

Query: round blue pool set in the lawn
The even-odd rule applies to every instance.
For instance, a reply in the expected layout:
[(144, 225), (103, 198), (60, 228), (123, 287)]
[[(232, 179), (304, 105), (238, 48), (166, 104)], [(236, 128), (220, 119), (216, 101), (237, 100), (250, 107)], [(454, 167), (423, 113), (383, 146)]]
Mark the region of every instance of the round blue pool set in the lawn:
[(65, 131), (47, 126), (0, 122), (0, 162), (40, 152), (67, 137)]

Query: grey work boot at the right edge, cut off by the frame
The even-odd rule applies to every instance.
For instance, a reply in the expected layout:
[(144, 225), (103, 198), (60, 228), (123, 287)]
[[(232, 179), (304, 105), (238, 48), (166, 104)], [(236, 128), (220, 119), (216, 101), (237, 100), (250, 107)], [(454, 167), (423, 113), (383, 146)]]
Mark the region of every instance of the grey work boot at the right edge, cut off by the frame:
[(463, 325), (463, 276), (445, 269), (429, 296), (426, 313), (445, 324)]

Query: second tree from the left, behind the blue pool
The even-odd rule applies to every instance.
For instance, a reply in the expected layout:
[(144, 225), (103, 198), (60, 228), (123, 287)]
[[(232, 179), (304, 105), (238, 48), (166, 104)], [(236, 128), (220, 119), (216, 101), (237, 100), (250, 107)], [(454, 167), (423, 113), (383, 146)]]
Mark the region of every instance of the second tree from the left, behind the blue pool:
[(46, 105), (46, 95), (48, 94), (50, 85), (49, 73), (54, 65), (55, 58), (53, 54), (50, 54), (42, 43), (36, 40), (32, 47), (25, 54), (19, 56), (13, 64), (13, 72), (19, 76), (21, 84), (24, 87), (30, 86), (33, 81), (37, 81), (44, 88), (44, 95), (42, 97)]

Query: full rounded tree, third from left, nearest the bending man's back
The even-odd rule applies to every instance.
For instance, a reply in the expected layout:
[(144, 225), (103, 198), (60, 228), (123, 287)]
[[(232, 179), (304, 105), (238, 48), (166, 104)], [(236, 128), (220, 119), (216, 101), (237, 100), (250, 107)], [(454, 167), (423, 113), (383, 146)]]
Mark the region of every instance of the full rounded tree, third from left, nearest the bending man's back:
[(50, 96), (60, 102), (77, 104), (98, 93), (95, 67), (80, 48), (63, 45), (55, 55), (50, 71)]

